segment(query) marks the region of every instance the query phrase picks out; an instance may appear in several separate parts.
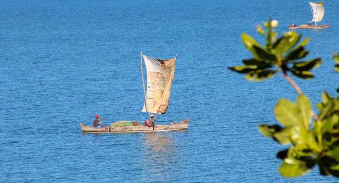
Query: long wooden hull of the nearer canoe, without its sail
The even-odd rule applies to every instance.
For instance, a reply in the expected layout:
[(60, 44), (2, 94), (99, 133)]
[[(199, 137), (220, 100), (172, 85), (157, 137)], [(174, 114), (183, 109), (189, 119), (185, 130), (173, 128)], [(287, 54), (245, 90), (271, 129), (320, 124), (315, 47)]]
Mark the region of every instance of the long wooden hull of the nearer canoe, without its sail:
[(147, 127), (139, 124), (138, 126), (125, 126), (125, 127), (106, 127), (94, 128), (80, 123), (82, 132), (84, 133), (135, 133), (135, 132), (164, 132), (164, 131), (177, 131), (188, 129), (188, 119), (177, 124), (171, 125), (155, 125), (154, 130), (152, 127)]

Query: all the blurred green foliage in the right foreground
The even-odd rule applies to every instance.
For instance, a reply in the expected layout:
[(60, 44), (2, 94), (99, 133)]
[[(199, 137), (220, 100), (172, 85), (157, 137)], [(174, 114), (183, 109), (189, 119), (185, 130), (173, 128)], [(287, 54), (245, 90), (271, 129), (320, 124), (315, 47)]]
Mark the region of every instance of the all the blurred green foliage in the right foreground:
[[(317, 104), (319, 114), (314, 114), (311, 101), (301, 93), (287, 73), (311, 79), (314, 76), (310, 71), (319, 67), (322, 61), (320, 58), (300, 61), (309, 54), (304, 47), (310, 38), (299, 45), (301, 35), (296, 32), (284, 33), (276, 39), (277, 24), (275, 21), (272, 29), (271, 20), (268, 21), (265, 23), (266, 31), (258, 26), (257, 31), (266, 36), (264, 47), (243, 33), (242, 42), (253, 58), (243, 60), (243, 66), (229, 69), (245, 74), (245, 78), (251, 81), (261, 81), (273, 77), (277, 72), (283, 72), (300, 94), (295, 103), (286, 99), (277, 102), (274, 114), (280, 125), (258, 126), (262, 135), (288, 146), (277, 153), (277, 157), (283, 160), (278, 170), (281, 175), (298, 177), (318, 165), (321, 175), (339, 177), (339, 96), (333, 98), (323, 92), (322, 102)], [(339, 55), (334, 54), (333, 59), (336, 63), (335, 71), (339, 72)]]

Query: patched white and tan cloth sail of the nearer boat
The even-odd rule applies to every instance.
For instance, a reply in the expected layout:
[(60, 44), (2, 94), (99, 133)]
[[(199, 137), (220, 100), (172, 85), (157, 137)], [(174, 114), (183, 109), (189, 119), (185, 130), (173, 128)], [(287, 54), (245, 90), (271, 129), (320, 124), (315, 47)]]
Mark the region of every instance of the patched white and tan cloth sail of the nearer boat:
[[(171, 95), (172, 81), (174, 79), (176, 57), (169, 60), (142, 55), (147, 70), (146, 106), (142, 112), (164, 114), (167, 111)], [(161, 105), (161, 106), (160, 106)]]

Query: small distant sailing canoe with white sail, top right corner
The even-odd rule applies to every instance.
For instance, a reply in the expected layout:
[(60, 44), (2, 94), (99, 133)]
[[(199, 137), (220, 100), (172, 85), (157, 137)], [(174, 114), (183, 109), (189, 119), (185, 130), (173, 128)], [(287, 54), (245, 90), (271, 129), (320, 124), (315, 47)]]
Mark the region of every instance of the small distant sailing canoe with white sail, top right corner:
[(324, 3), (321, 2), (310, 2), (310, 7), (312, 10), (312, 22), (316, 25), (300, 25), (300, 26), (290, 26), (288, 25), (288, 29), (322, 29), (328, 28), (328, 24), (318, 25), (318, 23), (322, 20), (325, 13)]

